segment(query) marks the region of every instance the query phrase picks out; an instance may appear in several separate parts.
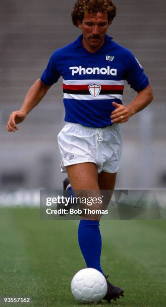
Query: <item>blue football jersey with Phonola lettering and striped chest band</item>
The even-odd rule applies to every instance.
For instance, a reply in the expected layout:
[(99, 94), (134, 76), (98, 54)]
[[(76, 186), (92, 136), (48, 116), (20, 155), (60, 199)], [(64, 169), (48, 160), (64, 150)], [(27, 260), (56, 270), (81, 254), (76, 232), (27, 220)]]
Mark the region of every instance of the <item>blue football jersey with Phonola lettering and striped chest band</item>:
[(65, 121), (89, 127), (112, 125), (112, 102), (122, 104), (124, 81), (137, 92), (148, 84), (143, 68), (132, 53), (105, 36), (104, 45), (94, 53), (77, 40), (56, 50), (41, 76), (53, 85), (62, 76)]

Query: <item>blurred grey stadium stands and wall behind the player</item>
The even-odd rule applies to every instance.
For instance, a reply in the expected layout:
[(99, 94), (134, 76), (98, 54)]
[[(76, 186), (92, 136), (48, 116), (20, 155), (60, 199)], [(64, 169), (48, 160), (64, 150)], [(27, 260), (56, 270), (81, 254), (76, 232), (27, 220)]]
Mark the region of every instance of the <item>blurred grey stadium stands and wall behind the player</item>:
[[(130, 49), (144, 67), (154, 100), (121, 125), (123, 153), (118, 189), (165, 188), (165, 0), (115, 0), (117, 17), (108, 34)], [(71, 22), (75, 0), (0, 2), (1, 35), (1, 191), (61, 189), (57, 134), (64, 125), (62, 80), (20, 125), (9, 133), (9, 114), (20, 108), (50, 55), (80, 34)], [(123, 103), (135, 93), (126, 84)]]

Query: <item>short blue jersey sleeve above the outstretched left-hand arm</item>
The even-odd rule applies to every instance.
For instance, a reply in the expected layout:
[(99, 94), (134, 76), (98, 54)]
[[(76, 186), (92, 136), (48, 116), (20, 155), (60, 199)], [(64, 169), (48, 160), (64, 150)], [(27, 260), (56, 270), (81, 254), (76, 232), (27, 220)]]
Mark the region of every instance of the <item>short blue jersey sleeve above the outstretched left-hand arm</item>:
[(52, 54), (49, 63), (47, 65), (47, 68), (44, 70), (42, 76), (41, 76), (41, 81), (44, 85), (53, 85), (58, 81), (60, 78), (60, 73), (58, 72), (57, 69), (57, 59), (55, 53)]

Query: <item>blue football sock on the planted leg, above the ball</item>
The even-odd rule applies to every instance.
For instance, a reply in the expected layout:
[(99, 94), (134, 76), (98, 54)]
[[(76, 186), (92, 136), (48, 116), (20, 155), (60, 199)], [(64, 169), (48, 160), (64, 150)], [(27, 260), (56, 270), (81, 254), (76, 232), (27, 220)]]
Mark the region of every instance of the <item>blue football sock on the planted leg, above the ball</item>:
[(101, 234), (99, 222), (81, 220), (78, 228), (78, 242), (87, 267), (95, 268), (104, 275), (100, 266)]

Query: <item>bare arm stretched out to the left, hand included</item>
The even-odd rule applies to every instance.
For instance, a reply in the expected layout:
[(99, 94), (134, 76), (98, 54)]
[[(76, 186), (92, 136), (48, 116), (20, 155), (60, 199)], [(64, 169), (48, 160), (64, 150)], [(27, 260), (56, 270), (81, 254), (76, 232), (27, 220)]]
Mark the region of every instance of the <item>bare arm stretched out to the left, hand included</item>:
[(21, 109), (11, 113), (7, 123), (7, 130), (15, 132), (18, 130), (18, 123), (21, 123), (29, 112), (42, 100), (51, 86), (45, 86), (40, 79), (36, 80), (30, 87)]

